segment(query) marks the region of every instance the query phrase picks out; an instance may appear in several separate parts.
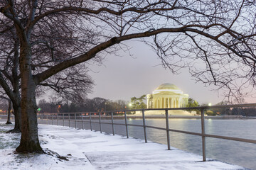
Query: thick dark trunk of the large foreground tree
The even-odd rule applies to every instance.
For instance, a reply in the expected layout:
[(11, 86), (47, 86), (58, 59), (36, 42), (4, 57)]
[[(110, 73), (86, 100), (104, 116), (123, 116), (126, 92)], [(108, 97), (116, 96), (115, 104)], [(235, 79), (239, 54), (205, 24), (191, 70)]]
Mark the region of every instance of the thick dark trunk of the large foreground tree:
[(36, 83), (31, 72), (31, 47), (21, 43), (21, 142), (17, 152), (43, 152), (38, 140)]

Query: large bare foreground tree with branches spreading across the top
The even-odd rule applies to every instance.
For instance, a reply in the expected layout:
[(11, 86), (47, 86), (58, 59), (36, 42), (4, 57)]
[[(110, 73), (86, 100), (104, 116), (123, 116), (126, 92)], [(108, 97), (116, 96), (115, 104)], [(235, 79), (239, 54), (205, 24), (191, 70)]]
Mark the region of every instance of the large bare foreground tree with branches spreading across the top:
[(255, 1), (5, 0), (0, 6), (1, 38), (11, 35), (10, 29), (18, 38), (22, 128), (17, 152), (42, 152), (36, 86), (82, 62), (100, 62), (124, 49), (127, 40), (143, 38), (171, 71), (188, 65), (198, 81), (230, 93), (238, 77), (255, 85)]

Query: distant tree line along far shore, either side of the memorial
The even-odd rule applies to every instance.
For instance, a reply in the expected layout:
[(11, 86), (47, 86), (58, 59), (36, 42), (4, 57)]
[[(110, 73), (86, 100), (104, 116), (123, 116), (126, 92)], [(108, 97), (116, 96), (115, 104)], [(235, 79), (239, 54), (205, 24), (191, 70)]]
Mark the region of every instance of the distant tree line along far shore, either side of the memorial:
[[(98, 111), (122, 111), (129, 109), (141, 109), (146, 108), (144, 101), (146, 96), (132, 97), (131, 101), (117, 100), (111, 101), (105, 98), (92, 98), (85, 99), (81, 103), (74, 101), (58, 101), (57, 97), (51, 97), (49, 101), (44, 99), (38, 101), (38, 108), (41, 108), (40, 113), (75, 113), (75, 112), (98, 112)], [(216, 106), (228, 105), (228, 101), (221, 101), (215, 104)], [(193, 98), (188, 98), (188, 104), (186, 107), (198, 107), (208, 106), (207, 103), (200, 104)], [(8, 103), (4, 100), (0, 100), (0, 110), (7, 113)], [(188, 110), (196, 111), (197, 109)], [(206, 115), (242, 115), (242, 116), (256, 116), (256, 108), (210, 108), (205, 111)]]

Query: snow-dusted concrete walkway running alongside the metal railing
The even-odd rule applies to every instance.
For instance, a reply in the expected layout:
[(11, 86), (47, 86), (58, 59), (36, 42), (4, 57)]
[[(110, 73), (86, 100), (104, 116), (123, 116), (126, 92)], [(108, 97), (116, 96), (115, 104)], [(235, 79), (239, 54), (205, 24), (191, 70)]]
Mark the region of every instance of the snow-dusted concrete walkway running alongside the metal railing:
[[(166, 150), (166, 145), (144, 143), (144, 140), (52, 125), (39, 127), (41, 133), (50, 135), (50, 145), (55, 152), (62, 155), (73, 152), (73, 156), (80, 159), (82, 153), (95, 169), (242, 169), (215, 160), (202, 162), (199, 155), (179, 149)], [(60, 141), (70, 147), (58, 148)]]

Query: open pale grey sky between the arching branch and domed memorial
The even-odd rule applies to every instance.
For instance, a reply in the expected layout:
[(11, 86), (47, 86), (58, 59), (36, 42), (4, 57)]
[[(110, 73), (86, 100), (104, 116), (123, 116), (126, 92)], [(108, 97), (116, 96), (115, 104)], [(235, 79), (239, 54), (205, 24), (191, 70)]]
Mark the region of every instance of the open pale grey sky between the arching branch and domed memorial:
[(178, 86), (184, 94), (196, 99), (199, 103), (218, 103), (223, 96), (212, 88), (196, 83), (188, 70), (174, 75), (168, 69), (156, 66), (161, 63), (156, 54), (142, 42), (129, 42), (133, 57), (109, 55), (102, 66), (92, 66), (89, 73), (95, 81), (93, 93), (88, 98), (102, 97), (110, 100), (129, 101), (133, 96), (151, 94), (164, 83)]

